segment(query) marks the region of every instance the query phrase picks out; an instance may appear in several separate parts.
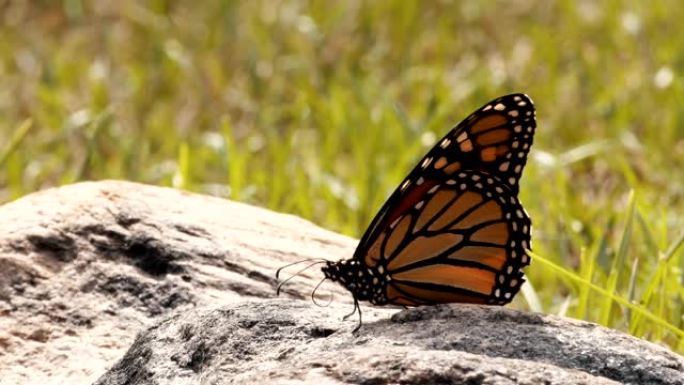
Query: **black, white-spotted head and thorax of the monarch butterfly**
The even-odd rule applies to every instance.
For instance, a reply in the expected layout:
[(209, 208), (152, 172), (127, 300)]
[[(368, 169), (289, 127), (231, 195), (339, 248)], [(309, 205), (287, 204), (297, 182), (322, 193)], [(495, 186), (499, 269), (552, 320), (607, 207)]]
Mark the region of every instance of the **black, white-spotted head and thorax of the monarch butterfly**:
[(383, 302), (384, 290), (378, 285), (377, 272), (362, 266), (358, 261), (349, 259), (327, 262), (321, 270), (326, 278), (344, 286), (357, 300), (374, 304)]

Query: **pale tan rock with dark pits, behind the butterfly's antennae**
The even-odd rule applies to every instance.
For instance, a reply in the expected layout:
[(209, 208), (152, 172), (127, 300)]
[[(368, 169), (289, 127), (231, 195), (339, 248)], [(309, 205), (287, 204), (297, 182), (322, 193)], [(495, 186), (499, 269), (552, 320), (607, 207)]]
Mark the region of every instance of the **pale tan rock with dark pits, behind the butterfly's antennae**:
[[(26, 196), (0, 207), (0, 384), (90, 384), (169, 312), (273, 297), (277, 267), (355, 246), (295, 216), (169, 188)], [(310, 269), (284, 295), (305, 298), (318, 279)]]

